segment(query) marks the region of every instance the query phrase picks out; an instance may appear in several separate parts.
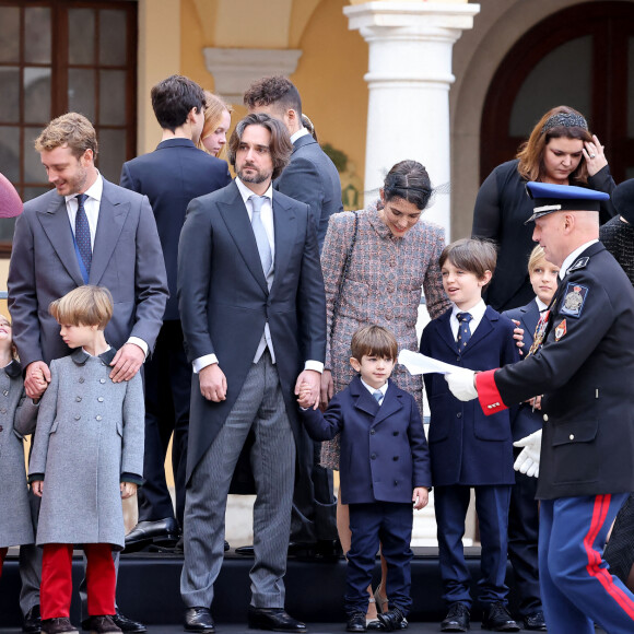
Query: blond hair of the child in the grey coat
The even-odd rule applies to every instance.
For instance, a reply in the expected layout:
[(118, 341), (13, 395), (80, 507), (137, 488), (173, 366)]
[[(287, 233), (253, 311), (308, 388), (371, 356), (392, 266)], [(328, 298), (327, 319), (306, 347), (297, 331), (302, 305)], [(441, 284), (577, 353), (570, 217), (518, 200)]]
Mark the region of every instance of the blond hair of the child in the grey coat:
[(51, 302), (48, 312), (58, 324), (96, 326), (104, 330), (113, 317), (113, 296), (105, 286), (78, 286)]

